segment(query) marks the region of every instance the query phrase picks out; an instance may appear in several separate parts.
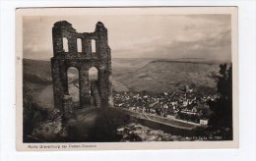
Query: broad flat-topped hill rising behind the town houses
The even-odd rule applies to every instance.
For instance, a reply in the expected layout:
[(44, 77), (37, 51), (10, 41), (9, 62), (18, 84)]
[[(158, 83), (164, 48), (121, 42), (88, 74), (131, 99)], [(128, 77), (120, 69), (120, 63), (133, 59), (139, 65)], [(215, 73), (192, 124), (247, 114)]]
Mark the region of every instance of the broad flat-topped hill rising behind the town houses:
[(143, 68), (115, 78), (131, 90), (164, 92), (177, 91), (184, 85), (199, 90), (216, 90), (216, 83), (209, 76), (219, 71), (220, 63), (153, 60)]

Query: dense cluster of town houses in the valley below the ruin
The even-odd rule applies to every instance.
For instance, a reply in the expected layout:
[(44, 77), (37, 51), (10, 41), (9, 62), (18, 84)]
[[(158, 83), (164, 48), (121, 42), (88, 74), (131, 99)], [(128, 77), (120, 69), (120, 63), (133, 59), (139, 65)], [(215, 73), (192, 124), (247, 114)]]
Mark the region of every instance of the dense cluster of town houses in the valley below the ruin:
[(114, 93), (113, 98), (115, 107), (207, 126), (211, 113), (207, 102), (215, 101), (219, 95), (202, 96), (189, 90), (180, 93), (123, 92)]

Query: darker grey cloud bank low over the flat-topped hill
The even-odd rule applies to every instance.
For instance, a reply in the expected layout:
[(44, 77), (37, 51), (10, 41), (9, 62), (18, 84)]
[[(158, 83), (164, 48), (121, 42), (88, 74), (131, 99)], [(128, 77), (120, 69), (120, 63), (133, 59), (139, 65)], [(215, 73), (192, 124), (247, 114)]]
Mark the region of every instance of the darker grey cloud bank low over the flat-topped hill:
[[(143, 41), (141, 41), (143, 42)], [(151, 43), (149, 43), (151, 42)], [(123, 54), (134, 57), (160, 58), (206, 58), (213, 60), (230, 61), (231, 34), (230, 28), (219, 28), (209, 34), (195, 31), (190, 34), (178, 34), (169, 40), (159, 38), (140, 43), (136, 48), (118, 50)]]

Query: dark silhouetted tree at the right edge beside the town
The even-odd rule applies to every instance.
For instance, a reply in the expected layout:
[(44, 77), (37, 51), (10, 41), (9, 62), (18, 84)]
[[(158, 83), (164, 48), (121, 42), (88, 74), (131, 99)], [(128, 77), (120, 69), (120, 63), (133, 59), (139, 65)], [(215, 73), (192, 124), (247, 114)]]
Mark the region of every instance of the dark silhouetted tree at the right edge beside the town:
[(220, 65), (219, 74), (213, 74), (217, 82), (220, 98), (210, 101), (209, 106), (213, 111), (209, 125), (214, 128), (232, 129), (232, 67), (226, 64)]

